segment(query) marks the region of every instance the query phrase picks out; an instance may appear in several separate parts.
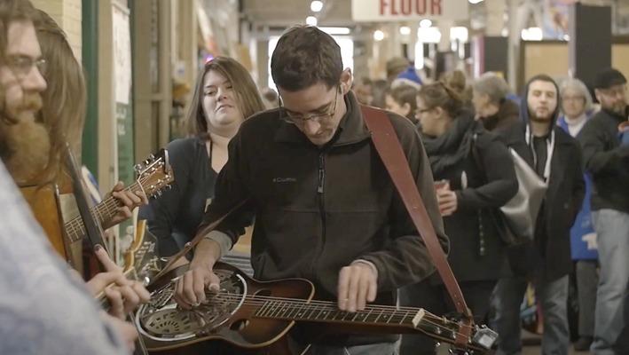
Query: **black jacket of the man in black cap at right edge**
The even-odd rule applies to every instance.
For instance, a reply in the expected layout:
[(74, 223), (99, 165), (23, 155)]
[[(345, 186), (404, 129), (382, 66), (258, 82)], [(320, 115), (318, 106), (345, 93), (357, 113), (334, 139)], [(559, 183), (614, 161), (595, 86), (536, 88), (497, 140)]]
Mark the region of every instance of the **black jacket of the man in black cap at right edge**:
[(629, 146), (620, 146), (618, 138), (618, 124), (626, 120), (626, 116), (601, 110), (577, 136), (586, 171), (594, 179), (593, 210), (629, 213)]

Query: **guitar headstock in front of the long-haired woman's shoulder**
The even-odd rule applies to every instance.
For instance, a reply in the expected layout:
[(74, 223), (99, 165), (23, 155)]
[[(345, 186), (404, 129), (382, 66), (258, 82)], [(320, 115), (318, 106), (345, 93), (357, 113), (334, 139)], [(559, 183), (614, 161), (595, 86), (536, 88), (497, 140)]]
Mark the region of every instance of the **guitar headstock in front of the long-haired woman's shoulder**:
[(144, 162), (138, 163), (134, 169), (138, 174), (138, 184), (142, 186), (148, 198), (161, 195), (161, 191), (175, 181), (169, 163), (169, 151), (166, 149), (161, 149), (155, 155), (149, 155)]

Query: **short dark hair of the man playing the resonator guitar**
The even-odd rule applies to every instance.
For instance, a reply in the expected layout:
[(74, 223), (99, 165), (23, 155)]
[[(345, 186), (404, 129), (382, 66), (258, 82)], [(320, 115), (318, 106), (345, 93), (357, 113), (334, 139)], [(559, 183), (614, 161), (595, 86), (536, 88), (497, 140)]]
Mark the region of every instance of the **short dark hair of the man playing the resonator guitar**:
[(341, 74), (341, 48), (332, 36), (316, 27), (288, 29), (271, 56), (273, 81), (287, 91), (300, 91), (316, 83), (325, 83), (330, 89), (339, 83)]

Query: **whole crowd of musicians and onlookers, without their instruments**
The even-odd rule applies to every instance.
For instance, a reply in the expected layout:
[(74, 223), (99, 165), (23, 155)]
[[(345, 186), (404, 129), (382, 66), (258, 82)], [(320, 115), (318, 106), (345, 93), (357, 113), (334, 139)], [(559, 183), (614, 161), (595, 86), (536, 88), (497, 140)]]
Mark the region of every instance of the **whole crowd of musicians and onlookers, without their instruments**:
[[(28, 0), (0, 3), (0, 33), (0, 200), (9, 206), (0, 215), (0, 352), (128, 353), (138, 332), (125, 316), (148, 301), (146, 289), (98, 246), (105, 272), (87, 281), (68, 272), (16, 187), (68, 184), (62, 152), (68, 143), (80, 154), (83, 69), (63, 31)], [(625, 76), (601, 68), (590, 90), (576, 78), (540, 74), (517, 98), (492, 73), (470, 81), (457, 70), (430, 81), (404, 58), (386, 69), (378, 80), (352, 73), (334, 39), (307, 26), (288, 29), (272, 53), (277, 92), (258, 90), (234, 59), (209, 60), (193, 91), (188, 135), (166, 146), (173, 188), (148, 202), (114, 186), (120, 208), (105, 227), (141, 206), (160, 256), (169, 258), (242, 204), (192, 256), (172, 264), (188, 267), (176, 280), (182, 312), (219, 291), (214, 265), (255, 225), (258, 280), (310, 280), (318, 300), (344, 312), (397, 304), (452, 313), (366, 128), (361, 106), (376, 106), (397, 134), (474, 321), (499, 334), (497, 353), (522, 351), (521, 305), (532, 286), (541, 352), (568, 354), (570, 282), (578, 295), (575, 349), (628, 353)], [(520, 188), (513, 154), (546, 184), (531, 241), (519, 245), (507, 243), (497, 219)], [(108, 312), (92, 300), (100, 293)], [(327, 330), (297, 324), (290, 346), (310, 344), (309, 354), (436, 353), (426, 335)], [(204, 353), (232, 352), (209, 345)]]

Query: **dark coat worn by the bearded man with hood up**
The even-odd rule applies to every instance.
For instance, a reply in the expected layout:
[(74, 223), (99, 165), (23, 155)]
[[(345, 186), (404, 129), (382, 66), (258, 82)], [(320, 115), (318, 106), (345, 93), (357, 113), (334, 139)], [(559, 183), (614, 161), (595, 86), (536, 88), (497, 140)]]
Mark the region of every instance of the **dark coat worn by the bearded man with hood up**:
[[(509, 261), (516, 274), (556, 280), (570, 273), (570, 228), (577, 217), (585, 195), (585, 181), (581, 169), (581, 149), (576, 139), (553, 125), (555, 146), (550, 167), (548, 190), (544, 201), (546, 242), (528, 244), (509, 250)], [(507, 146), (529, 163), (533, 155), (524, 138), (524, 124), (518, 123), (505, 135)]]

